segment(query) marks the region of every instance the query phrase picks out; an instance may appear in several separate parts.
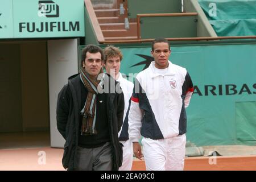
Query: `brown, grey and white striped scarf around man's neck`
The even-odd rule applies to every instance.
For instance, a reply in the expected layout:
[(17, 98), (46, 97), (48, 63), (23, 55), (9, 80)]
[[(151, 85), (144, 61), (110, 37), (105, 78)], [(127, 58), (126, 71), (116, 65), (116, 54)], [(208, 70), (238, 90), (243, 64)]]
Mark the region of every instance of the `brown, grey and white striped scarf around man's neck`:
[(102, 88), (104, 84), (105, 73), (101, 68), (102, 73), (101, 80), (92, 80), (85, 69), (81, 69), (80, 78), (85, 88), (88, 89), (87, 98), (85, 101), (84, 108), (81, 110), (82, 114), (82, 127), (81, 135), (93, 135), (97, 134), (95, 123), (96, 123), (96, 95), (98, 94), (98, 86)]

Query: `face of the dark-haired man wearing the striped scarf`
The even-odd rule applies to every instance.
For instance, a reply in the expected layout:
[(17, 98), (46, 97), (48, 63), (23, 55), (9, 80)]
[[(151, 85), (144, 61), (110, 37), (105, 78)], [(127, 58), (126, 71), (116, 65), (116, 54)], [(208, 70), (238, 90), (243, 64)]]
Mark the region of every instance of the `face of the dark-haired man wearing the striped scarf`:
[(97, 78), (98, 73), (101, 71), (102, 60), (101, 53), (90, 53), (86, 52), (85, 61), (82, 63), (82, 67), (89, 74), (91, 78)]

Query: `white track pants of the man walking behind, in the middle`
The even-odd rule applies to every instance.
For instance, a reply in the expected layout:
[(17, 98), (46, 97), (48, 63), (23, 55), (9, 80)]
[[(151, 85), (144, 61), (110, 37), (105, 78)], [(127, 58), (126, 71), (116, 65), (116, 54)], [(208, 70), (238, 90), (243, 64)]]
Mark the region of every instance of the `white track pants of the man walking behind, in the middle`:
[(121, 141), (123, 144), (123, 163), (119, 171), (131, 171), (133, 166), (133, 143), (131, 140)]

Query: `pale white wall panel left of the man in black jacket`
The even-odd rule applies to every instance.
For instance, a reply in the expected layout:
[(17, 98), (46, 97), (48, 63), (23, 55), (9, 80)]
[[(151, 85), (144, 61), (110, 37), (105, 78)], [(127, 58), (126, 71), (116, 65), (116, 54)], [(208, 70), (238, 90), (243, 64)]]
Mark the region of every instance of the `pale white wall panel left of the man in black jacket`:
[(64, 147), (65, 140), (57, 130), (57, 94), (78, 73), (77, 39), (48, 40), (49, 113), (51, 147)]

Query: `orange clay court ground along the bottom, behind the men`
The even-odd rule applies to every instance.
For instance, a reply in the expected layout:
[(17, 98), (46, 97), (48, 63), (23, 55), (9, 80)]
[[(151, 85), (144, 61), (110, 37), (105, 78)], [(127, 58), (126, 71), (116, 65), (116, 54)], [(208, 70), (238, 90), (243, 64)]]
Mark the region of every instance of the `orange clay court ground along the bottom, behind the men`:
[[(0, 150), (0, 170), (62, 171), (62, 148), (22, 148)], [(43, 158), (46, 156), (46, 158)], [(211, 164), (210, 164), (211, 163)], [(144, 161), (134, 159), (133, 171), (145, 170)], [(256, 170), (256, 155), (209, 156), (185, 158), (185, 171), (194, 170)]]

